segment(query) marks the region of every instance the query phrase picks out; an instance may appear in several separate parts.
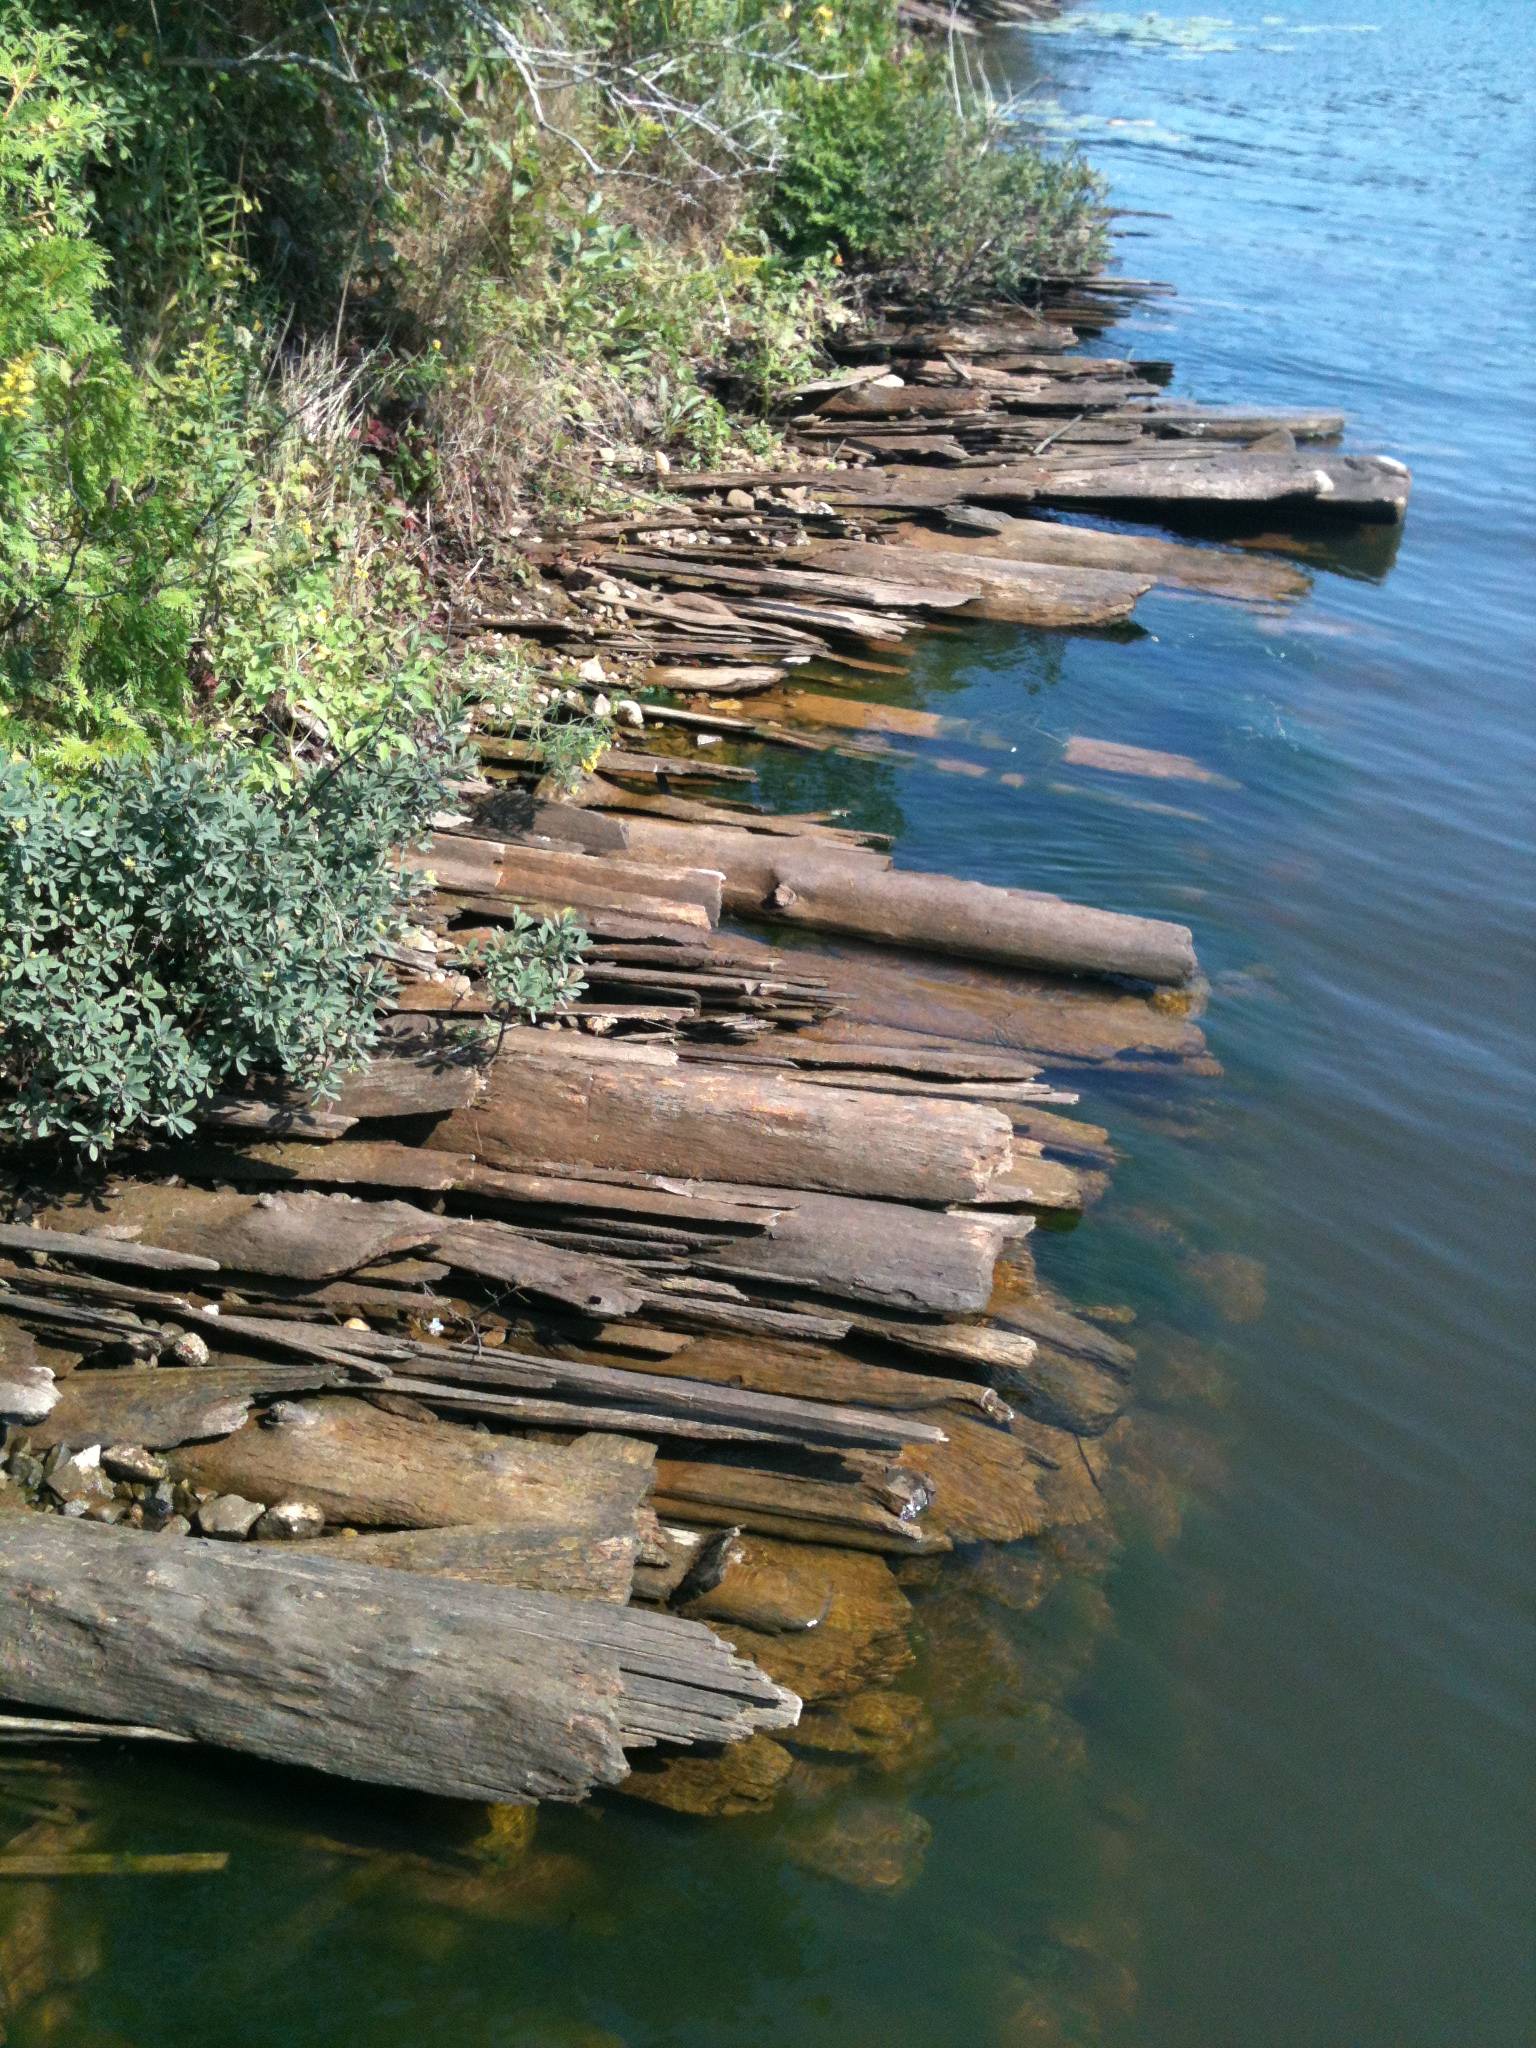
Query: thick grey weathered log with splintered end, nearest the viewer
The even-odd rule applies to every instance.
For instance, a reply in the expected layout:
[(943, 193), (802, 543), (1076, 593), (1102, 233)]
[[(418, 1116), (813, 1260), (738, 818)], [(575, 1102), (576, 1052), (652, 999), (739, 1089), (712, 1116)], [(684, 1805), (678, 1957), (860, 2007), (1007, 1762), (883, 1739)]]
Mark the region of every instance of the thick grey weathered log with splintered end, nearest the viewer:
[(627, 1743), (799, 1712), (676, 1616), (53, 1516), (0, 1528), (0, 1667), (27, 1706), (506, 1802), (616, 1784)]

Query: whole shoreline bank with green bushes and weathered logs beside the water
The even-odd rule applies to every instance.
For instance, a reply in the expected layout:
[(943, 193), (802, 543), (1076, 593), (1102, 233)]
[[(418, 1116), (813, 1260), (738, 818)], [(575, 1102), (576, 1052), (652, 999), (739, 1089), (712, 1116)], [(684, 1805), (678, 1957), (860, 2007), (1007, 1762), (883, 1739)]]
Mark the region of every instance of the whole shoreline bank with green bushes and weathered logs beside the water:
[[(1092, 352), (1155, 287), (934, 16), (0, 12), (16, 1757), (784, 1800), (893, 1888), (922, 1823), (829, 1802), (922, 1753), (913, 1599), (1104, 1571), (1135, 1354), (1030, 1237), (1114, 1165), (1098, 1075), (1212, 1071), (1192, 934), (754, 762), (1008, 780), (860, 680), (934, 616), (1292, 604), (1120, 528), (1409, 483)], [(0, 1872), (94, 1868), (88, 1804)]]

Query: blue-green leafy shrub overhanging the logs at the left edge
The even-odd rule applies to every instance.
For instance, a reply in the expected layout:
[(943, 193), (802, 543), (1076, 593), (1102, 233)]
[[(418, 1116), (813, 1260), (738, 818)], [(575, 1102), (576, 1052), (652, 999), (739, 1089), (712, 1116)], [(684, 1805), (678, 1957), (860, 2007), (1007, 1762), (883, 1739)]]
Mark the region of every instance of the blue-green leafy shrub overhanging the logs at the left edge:
[(0, 1133), (98, 1157), (252, 1073), (334, 1092), (444, 770), (381, 752), (256, 793), (236, 754), (168, 750), (59, 793), (2, 762)]

